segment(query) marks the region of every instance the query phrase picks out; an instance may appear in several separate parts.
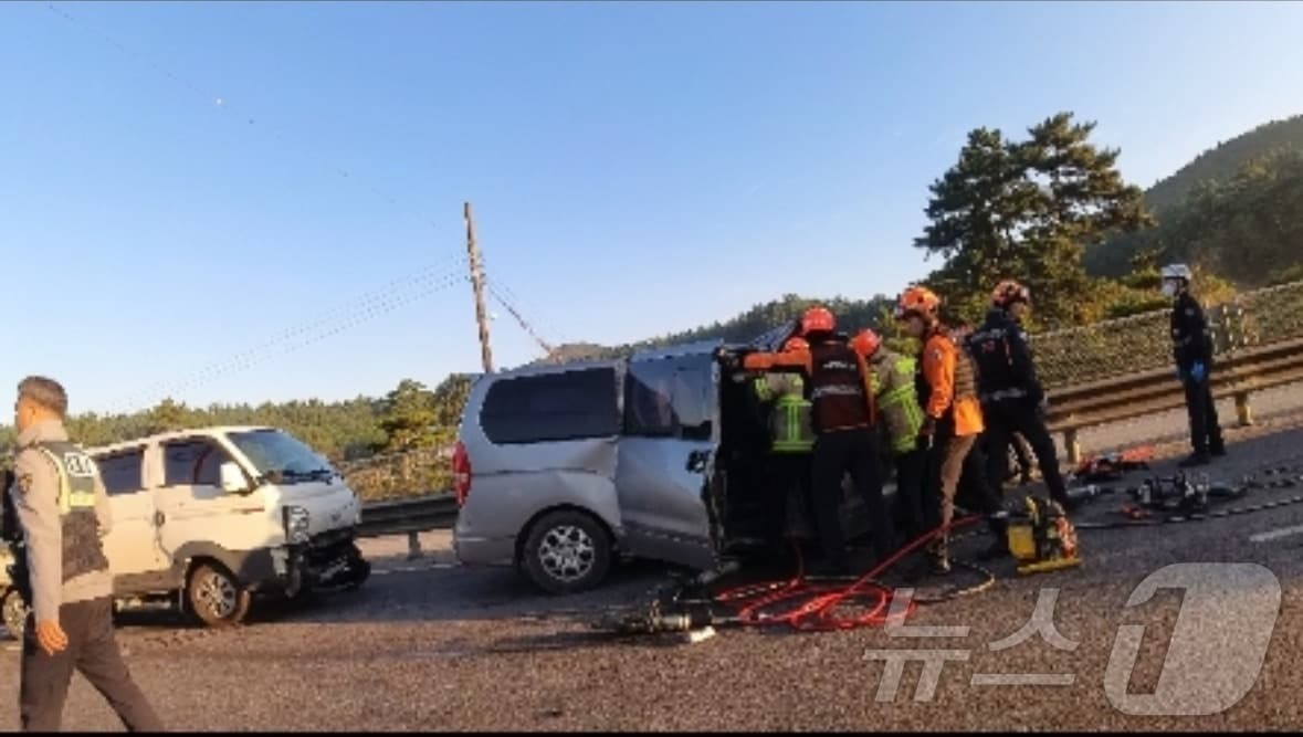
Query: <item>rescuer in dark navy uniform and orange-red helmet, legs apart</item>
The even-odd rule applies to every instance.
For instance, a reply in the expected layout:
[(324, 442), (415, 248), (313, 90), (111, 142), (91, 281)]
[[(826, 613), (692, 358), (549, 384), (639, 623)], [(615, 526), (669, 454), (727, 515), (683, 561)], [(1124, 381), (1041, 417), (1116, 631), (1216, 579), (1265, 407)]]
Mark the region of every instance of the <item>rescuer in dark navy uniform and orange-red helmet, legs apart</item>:
[(988, 434), (986, 478), (994, 488), (1003, 487), (1009, 447), (1015, 435), (1022, 435), (1036, 454), (1050, 496), (1071, 509), (1054, 439), (1045, 427), (1045, 389), (1036, 376), (1022, 327), (1022, 315), (1031, 301), (1031, 292), (1022, 284), (1001, 281), (992, 294), (986, 322), (968, 336)]

